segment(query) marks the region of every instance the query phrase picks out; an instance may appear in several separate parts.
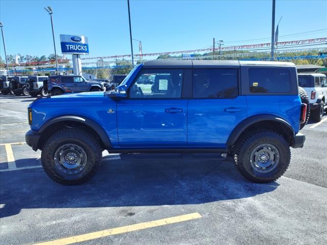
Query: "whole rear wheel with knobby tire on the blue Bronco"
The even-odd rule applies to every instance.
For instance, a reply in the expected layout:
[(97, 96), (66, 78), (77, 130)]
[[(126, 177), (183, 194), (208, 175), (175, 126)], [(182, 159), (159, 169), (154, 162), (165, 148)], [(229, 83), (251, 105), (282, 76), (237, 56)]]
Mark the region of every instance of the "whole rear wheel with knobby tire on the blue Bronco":
[(288, 168), (291, 151), (285, 138), (273, 131), (254, 131), (239, 139), (234, 155), (235, 166), (247, 180), (269, 183)]

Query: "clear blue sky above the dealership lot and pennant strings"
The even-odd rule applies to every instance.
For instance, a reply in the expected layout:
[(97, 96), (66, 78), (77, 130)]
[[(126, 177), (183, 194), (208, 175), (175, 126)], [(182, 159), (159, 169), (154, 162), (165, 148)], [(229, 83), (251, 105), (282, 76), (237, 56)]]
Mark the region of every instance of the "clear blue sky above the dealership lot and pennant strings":
[[(7, 54), (57, 54), (59, 34), (85, 35), (89, 57), (130, 54), (127, 1), (0, 1)], [(132, 35), (143, 53), (270, 42), (272, 1), (130, 1)], [(327, 37), (327, 1), (276, 1), (278, 41)], [(324, 29), (324, 30), (323, 30)], [(320, 30), (320, 31), (317, 31)], [(315, 31), (315, 32), (312, 32)], [(311, 33), (304, 33), (311, 32)], [(298, 35), (291, 35), (297, 34)], [(284, 35), (288, 35), (283, 37)], [(264, 40), (252, 40), (262, 39)], [(243, 41), (251, 40), (251, 41)], [(134, 53), (138, 42), (133, 41)], [(0, 55), (4, 57), (1, 39)]]

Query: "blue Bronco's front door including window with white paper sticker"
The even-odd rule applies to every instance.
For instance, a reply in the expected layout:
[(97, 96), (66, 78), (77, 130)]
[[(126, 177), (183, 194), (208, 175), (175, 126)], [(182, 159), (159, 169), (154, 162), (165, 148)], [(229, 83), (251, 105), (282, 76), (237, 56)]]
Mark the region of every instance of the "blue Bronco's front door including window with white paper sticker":
[[(147, 82), (145, 82), (147, 80)], [(143, 69), (118, 102), (118, 137), (126, 148), (186, 146), (182, 69)]]

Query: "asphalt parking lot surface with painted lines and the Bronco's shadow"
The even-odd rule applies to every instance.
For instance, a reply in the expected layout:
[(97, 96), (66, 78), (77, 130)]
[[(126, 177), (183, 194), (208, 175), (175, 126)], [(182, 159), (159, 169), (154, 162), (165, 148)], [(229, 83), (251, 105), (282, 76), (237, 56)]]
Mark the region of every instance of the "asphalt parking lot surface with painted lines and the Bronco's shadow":
[(230, 160), (104, 153), (95, 178), (62, 186), (25, 143), (32, 101), (0, 95), (1, 244), (327, 243), (327, 115), (274, 183), (246, 181)]

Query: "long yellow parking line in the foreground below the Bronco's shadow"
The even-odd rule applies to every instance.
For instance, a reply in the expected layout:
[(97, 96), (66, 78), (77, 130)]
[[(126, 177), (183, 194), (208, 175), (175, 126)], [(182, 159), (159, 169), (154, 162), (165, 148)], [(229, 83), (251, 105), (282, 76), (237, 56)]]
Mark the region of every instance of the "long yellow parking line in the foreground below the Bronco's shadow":
[(180, 215), (180, 216), (175, 216), (175, 217), (170, 217), (170, 218), (153, 220), (153, 221), (145, 222), (145, 223), (134, 224), (134, 225), (130, 225), (130, 226), (122, 226), (122, 227), (118, 227), (118, 228), (97, 231), (97, 232), (91, 232), (91, 233), (78, 235), (78, 236), (71, 236), (71, 237), (61, 238), (61, 239), (52, 240), (52, 241), (45, 241), (45, 242), (41, 242), (41, 243), (36, 243), (36, 245), (71, 244), (71, 243), (75, 243), (75, 242), (93, 240), (93, 239), (105, 237), (105, 236), (112, 236), (112, 235), (116, 235), (116, 234), (122, 234), (122, 233), (126, 233), (126, 232), (143, 230), (143, 229), (148, 229), (148, 228), (152, 228), (152, 227), (170, 225), (170, 224), (184, 222), (187, 220), (192, 220), (192, 219), (201, 218), (201, 217), (202, 216), (199, 213), (190, 213), (190, 214), (185, 214), (185, 215)]

